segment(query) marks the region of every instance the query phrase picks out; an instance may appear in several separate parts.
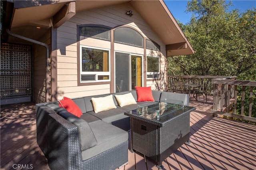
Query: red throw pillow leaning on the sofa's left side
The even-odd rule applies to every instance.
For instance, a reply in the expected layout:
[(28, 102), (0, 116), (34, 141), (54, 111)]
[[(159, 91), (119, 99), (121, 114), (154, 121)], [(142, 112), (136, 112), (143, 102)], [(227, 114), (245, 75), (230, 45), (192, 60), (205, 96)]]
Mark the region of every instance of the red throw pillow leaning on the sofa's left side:
[(72, 101), (72, 99), (68, 97), (63, 97), (63, 100), (59, 101), (59, 107), (66, 109), (68, 112), (77, 117), (82, 116), (81, 109), (76, 105), (76, 103), (74, 103), (74, 101)]

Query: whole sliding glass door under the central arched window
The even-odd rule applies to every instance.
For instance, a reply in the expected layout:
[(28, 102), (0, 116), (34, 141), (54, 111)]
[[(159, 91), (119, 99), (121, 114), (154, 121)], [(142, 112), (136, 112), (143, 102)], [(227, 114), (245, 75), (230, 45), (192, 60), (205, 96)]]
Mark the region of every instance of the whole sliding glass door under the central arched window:
[(142, 56), (115, 53), (116, 92), (129, 91), (142, 86)]

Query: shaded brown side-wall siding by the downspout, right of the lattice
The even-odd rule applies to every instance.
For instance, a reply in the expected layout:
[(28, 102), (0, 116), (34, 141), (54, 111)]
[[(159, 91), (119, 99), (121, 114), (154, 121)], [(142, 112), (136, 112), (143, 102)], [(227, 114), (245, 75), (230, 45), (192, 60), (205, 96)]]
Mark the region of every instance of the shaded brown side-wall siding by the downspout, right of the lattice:
[[(38, 41), (50, 46), (50, 37), (49, 30)], [(43, 103), (46, 101), (46, 48), (34, 44), (33, 49), (33, 101)]]

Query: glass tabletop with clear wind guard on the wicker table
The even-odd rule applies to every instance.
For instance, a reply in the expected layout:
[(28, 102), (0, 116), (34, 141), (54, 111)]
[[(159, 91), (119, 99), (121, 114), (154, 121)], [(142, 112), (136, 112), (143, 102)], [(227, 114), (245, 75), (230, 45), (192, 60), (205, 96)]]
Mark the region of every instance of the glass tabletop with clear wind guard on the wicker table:
[(193, 110), (195, 110), (194, 107), (183, 105), (182, 101), (163, 99), (158, 103), (138, 105), (137, 109), (127, 111), (124, 115), (137, 119), (147, 119), (151, 123), (162, 127), (166, 121)]

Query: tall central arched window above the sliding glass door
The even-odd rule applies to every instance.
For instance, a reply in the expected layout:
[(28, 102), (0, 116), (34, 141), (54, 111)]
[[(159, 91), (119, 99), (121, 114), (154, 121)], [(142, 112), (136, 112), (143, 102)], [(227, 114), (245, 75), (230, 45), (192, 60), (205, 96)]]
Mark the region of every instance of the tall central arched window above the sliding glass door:
[(144, 47), (144, 38), (136, 30), (129, 27), (120, 27), (114, 31), (114, 42)]

